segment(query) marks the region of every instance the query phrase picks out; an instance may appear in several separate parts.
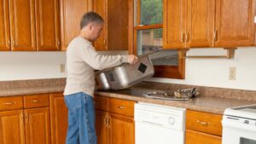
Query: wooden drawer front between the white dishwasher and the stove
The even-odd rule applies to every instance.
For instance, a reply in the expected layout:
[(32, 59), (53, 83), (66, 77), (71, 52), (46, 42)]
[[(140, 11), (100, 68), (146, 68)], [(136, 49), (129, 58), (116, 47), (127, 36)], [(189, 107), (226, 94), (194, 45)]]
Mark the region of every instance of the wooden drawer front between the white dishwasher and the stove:
[(222, 135), (221, 120), (222, 116), (218, 114), (187, 110), (186, 129)]

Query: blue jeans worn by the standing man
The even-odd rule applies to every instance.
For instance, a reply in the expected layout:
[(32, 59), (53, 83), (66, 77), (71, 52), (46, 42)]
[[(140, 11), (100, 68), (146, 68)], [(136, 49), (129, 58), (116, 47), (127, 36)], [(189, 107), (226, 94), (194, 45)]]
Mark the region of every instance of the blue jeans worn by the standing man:
[(96, 144), (95, 108), (90, 95), (65, 95), (68, 109), (66, 144)]

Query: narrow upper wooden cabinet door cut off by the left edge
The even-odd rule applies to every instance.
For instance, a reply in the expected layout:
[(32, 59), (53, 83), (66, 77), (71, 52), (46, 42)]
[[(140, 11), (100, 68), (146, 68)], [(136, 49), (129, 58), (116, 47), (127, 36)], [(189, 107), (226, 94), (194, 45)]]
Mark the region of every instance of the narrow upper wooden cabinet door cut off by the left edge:
[(8, 0), (0, 0), (0, 50), (9, 49), (9, 2)]

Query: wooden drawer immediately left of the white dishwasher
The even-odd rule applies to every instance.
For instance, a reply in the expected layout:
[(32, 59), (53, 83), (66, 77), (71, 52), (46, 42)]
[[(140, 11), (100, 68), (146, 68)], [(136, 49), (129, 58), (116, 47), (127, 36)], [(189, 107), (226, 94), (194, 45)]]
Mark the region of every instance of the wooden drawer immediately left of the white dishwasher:
[(108, 98), (108, 112), (134, 117), (135, 101)]

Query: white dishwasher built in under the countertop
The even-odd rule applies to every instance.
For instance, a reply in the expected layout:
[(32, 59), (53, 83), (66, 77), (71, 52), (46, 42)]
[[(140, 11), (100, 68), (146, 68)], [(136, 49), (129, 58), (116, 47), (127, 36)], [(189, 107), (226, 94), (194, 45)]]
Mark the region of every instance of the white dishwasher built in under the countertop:
[(140, 102), (134, 112), (136, 144), (184, 144), (185, 109)]

